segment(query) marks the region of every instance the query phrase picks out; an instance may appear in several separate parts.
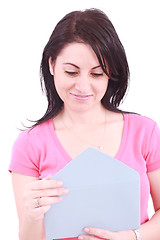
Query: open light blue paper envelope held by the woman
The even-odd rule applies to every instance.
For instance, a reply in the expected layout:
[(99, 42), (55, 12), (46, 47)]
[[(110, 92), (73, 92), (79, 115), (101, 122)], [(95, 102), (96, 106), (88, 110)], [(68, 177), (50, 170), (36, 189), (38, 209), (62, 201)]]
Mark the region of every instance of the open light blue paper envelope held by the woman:
[(47, 240), (77, 237), (87, 226), (140, 227), (140, 176), (115, 158), (88, 148), (52, 179), (62, 180), (69, 194), (45, 214)]

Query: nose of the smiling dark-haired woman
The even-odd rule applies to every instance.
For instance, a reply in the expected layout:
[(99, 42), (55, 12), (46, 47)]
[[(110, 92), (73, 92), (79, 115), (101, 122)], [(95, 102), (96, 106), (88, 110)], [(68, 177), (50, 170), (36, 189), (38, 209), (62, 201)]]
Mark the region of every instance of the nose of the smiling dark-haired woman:
[(89, 76), (79, 76), (79, 78), (76, 79), (75, 89), (80, 93), (88, 93), (91, 90), (91, 81)]

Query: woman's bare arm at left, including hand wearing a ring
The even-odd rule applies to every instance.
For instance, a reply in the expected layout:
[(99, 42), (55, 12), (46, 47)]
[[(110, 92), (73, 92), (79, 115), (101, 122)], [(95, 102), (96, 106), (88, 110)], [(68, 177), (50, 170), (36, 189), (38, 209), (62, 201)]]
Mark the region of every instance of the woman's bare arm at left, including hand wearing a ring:
[[(60, 195), (66, 194), (66, 189), (61, 188), (62, 183), (49, 180), (46, 177), (39, 180), (12, 172), (12, 183), (16, 207), (19, 217), (20, 240), (45, 240), (44, 213), (51, 204), (61, 201)], [(36, 199), (40, 198), (40, 207)]]

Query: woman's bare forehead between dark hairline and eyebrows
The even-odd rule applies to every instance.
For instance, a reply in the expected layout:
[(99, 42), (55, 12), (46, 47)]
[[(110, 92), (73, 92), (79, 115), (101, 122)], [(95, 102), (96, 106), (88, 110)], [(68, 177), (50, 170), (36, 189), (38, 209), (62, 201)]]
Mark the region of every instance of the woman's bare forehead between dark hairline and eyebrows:
[(90, 45), (85, 43), (69, 43), (61, 50), (57, 63), (74, 63), (83, 65), (99, 65), (97, 56)]

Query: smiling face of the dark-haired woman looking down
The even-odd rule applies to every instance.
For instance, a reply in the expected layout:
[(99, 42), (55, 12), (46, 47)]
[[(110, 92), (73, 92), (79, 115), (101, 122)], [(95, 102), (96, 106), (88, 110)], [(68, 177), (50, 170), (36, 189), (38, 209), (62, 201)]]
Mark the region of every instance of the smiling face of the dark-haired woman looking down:
[(101, 105), (108, 77), (89, 45), (67, 44), (54, 63), (49, 59), (49, 66), (65, 109), (87, 111)]

